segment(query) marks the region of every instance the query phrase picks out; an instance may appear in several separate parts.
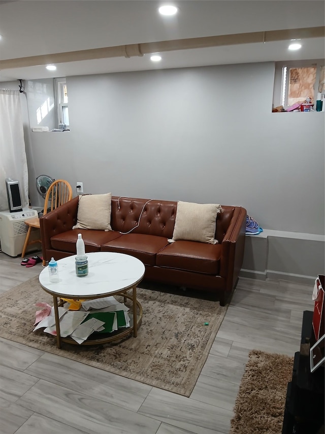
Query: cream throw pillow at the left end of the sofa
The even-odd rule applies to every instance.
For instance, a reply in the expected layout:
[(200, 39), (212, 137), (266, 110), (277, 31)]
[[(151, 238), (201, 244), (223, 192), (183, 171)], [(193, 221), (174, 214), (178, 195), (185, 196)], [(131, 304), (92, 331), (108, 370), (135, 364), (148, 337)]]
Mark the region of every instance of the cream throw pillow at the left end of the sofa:
[(77, 224), (73, 229), (111, 228), (112, 193), (79, 196)]

